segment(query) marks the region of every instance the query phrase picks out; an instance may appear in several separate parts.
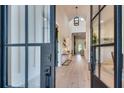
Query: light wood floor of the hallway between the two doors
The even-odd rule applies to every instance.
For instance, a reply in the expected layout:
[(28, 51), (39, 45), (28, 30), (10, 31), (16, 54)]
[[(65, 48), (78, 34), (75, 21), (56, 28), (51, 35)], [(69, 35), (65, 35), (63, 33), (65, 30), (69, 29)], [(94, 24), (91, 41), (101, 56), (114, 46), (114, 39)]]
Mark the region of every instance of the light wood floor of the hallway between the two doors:
[(56, 68), (57, 88), (89, 88), (90, 72), (84, 57), (73, 56), (68, 66)]

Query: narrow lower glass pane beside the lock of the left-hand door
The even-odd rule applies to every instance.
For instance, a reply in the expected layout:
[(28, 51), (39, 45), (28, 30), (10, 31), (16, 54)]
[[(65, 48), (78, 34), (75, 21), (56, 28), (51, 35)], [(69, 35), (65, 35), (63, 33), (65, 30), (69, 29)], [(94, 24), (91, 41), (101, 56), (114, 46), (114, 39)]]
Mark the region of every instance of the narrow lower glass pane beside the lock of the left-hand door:
[(29, 47), (28, 87), (40, 87), (40, 56), (40, 47)]

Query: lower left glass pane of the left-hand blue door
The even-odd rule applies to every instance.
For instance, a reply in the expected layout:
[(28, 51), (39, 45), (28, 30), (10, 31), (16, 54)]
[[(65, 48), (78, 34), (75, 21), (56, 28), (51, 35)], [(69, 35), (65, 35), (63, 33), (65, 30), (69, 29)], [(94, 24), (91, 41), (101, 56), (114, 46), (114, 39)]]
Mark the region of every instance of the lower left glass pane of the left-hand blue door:
[(8, 85), (25, 87), (25, 47), (8, 47)]

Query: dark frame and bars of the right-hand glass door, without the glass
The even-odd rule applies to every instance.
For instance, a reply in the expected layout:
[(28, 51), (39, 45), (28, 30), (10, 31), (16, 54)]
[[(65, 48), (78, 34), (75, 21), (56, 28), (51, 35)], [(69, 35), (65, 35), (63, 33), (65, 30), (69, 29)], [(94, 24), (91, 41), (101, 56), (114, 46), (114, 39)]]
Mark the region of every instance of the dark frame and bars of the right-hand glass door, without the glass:
[[(98, 16), (98, 30), (100, 33), (100, 12), (105, 8), (103, 6), (99, 11), (93, 16), (93, 6), (90, 6), (90, 61), (91, 61), (91, 87), (104, 87), (107, 88), (108, 86), (103, 83), (95, 74), (95, 59), (94, 59), (94, 47), (92, 42), (93, 36), (93, 20)], [(99, 34), (100, 37), (100, 34)], [(99, 40), (100, 43), (100, 40)], [(109, 46), (114, 45), (114, 87), (121, 88), (122, 87), (122, 6), (115, 5), (114, 6), (114, 44), (109, 44)], [(101, 46), (101, 45), (100, 45)], [(99, 46), (99, 47), (100, 47)], [(107, 45), (105, 45), (107, 46)], [(100, 50), (100, 49), (99, 49)], [(99, 53), (100, 54), (100, 53)], [(100, 58), (100, 56), (99, 56)], [(99, 62), (99, 75), (100, 73), (100, 62)]]

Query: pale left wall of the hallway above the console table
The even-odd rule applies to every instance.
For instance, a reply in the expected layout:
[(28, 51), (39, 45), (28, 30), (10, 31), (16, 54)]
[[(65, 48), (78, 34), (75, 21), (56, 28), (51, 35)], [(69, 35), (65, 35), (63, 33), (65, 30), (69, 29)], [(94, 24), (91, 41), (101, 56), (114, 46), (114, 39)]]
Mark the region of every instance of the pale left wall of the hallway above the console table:
[(59, 52), (59, 65), (61, 64), (61, 54), (64, 51), (63, 47), (63, 39), (65, 38), (67, 40), (67, 46), (68, 50), (71, 51), (71, 31), (69, 29), (69, 21), (68, 17), (65, 14), (64, 10), (62, 7), (56, 6), (56, 23), (58, 25), (58, 31), (59, 31), (59, 46), (60, 46), (60, 51)]

